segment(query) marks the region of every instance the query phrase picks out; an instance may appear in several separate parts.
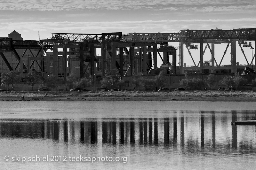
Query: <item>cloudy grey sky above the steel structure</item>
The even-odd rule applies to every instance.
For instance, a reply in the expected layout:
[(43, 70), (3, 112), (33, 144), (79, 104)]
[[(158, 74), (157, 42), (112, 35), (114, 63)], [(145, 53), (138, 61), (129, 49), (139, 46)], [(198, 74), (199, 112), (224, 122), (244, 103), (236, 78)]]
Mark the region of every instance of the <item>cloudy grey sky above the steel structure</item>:
[(15, 30), (24, 40), (38, 40), (38, 31), (40, 39), (47, 39), (52, 33), (256, 27), (255, 0), (0, 0), (0, 4), (0, 37)]

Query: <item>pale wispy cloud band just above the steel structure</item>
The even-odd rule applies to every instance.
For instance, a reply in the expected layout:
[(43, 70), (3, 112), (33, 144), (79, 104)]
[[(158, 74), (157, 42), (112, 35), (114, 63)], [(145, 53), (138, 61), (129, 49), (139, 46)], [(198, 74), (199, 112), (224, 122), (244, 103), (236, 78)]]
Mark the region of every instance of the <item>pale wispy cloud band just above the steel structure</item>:
[[(179, 31), (182, 28), (186, 29), (202, 29), (202, 27), (208, 27), (212, 29), (223, 25), (223, 29), (233, 27), (233, 23), (240, 23), (243, 25), (249, 25), (249, 23), (256, 23), (256, 19), (251, 18), (239, 18), (239, 19), (181, 19), (181, 20), (144, 20), (144, 21), (103, 21), (103, 22), (2, 22), (0, 30), (8, 29), (24, 29), (24, 30), (49, 30), (49, 31), (72, 31), (80, 30), (165, 30), (170, 28), (174, 31)], [(251, 27), (256, 27), (256, 24), (250, 24)], [(238, 25), (239, 26), (239, 25)], [(239, 27), (236, 27), (239, 28)]]

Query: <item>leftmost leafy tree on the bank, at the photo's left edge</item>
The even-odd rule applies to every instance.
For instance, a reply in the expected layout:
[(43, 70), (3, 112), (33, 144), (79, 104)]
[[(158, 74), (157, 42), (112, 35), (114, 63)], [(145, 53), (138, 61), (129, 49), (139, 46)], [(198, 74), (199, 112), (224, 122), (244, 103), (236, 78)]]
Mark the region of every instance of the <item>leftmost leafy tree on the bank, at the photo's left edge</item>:
[(8, 73), (3, 73), (1, 76), (1, 81), (12, 85), (12, 89), (14, 90), (14, 84), (20, 81), (20, 72), (18, 71), (10, 71)]

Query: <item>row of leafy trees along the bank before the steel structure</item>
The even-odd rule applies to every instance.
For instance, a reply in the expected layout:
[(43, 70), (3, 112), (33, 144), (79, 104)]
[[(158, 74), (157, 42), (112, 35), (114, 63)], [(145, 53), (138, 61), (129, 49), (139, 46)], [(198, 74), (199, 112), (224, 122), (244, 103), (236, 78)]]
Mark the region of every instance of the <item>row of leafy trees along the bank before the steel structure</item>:
[[(14, 85), (16, 83), (24, 83), (32, 87), (32, 91), (34, 91), (34, 85), (39, 84), (39, 89), (47, 88), (54, 89), (57, 87), (57, 77), (54, 77), (53, 74), (50, 74), (46, 77), (42, 77), (35, 70), (30, 71), (26, 76), (20, 77), (20, 73), (18, 71), (10, 71), (8, 73), (2, 73), (1, 75), (1, 83), (6, 83), (11, 85), (12, 90), (14, 90)], [(91, 75), (85, 73), (83, 78), (76, 77), (75, 74), (69, 74), (66, 78), (65, 83), (69, 89), (74, 87), (85, 88), (93, 85), (93, 78)], [(99, 83), (99, 81), (97, 81)], [(119, 88), (123, 89), (125, 86), (125, 81), (120, 76), (120, 71), (118, 69), (106, 69), (105, 76), (100, 81), (101, 86), (108, 87), (109, 89)], [(196, 89), (204, 89), (205, 87), (212, 89), (216, 86), (216, 84), (221, 84), (225, 87), (234, 87), (239, 89), (241, 86), (247, 83), (247, 80), (240, 76), (238, 73), (235, 73), (232, 76), (225, 76), (219, 82), (215, 82), (214, 75), (209, 74), (206, 80), (200, 78), (190, 78), (187, 74), (185, 74), (185, 78), (180, 80), (180, 86), (185, 87), (188, 90), (196, 90)], [(167, 87), (167, 79), (165, 76), (165, 71), (162, 70), (158, 75), (154, 77), (148, 77), (143, 75), (142, 73), (138, 73), (132, 76), (132, 86), (134, 89), (144, 89), (144, 90), (152, 90), (159, 89), (163, 87)], [(256, 80), (252, 80), (252, 87), (256, 87)]]

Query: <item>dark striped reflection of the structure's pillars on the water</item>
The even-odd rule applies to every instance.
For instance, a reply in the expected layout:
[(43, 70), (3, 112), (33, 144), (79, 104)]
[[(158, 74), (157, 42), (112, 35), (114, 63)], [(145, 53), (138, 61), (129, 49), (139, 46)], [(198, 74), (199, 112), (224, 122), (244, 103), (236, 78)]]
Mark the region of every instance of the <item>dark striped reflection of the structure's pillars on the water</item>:
[[(139, 144), (164, 146), (186, 146), (187, 148), (206, 146), (212, 148), (231, 146), (237, 149), (243, 145), (244, 130), (231, 126), (238, 119), (232, 111), (230, 118), (215, 112), (197, 112), (194, 117), (166, 118), (122, 118), (69, 120), (1, 120), (1, 138), (42, 138), (58, 142), (79, 142), (82, 144)], [(250, 115), (250, 113), (247, 113)], [(180, 115), (184, 115), (183, 112)], [(243, 113), (239, 113), (239, 119)], [(231, 121), (230, 121), (231, 120)], [(253, 128), (253, 127), (251, 127)], [(253, 130), (256, 136), (256, 130)], [(243, 139), (243, 143), (238, 140)], [(102, 141), (101, 141), (102, 140)], [(253, 142), (255, 145), (255, 138)], [(252, 147), (252, 146), (251, 146)], [(255, 147), (255, 146), (254, 146)]]

